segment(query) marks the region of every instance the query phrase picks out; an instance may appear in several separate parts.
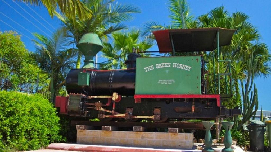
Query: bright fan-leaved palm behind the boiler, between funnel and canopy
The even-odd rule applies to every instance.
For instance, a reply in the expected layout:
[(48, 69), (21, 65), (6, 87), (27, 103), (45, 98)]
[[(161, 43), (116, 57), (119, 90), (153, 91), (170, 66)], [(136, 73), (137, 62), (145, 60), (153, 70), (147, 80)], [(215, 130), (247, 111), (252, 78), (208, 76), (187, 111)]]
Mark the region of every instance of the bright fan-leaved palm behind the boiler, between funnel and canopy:
[(114, 47), (109, 43), (103, 44), (103, 57), (110, 60), (110, 62), (102, 65), (102, 68), (125, 69), (127, 54), (133, 52), (133, 47), (138, 47), (140, 50), (146, 51), (153, 46), (151, 42), (140, 41), (140, 31), (138, 29), (131, 29), (128, 32), (114, 32), (112, 33), (112, 37)]

